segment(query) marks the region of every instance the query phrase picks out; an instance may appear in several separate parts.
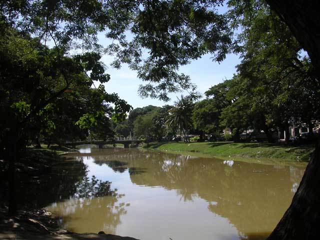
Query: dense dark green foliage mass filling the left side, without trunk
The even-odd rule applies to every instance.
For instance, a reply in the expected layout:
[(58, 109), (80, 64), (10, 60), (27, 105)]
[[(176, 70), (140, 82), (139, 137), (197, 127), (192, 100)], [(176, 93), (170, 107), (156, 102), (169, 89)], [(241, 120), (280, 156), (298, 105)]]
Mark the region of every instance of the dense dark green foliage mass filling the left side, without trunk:
[[(110, 78), (100, 61), (101, 54), (94, 51), (69, 54), (71, 42), (66, 38), (62, 41), (57, 35), (59, 29), (49, 25), (42, 29), (44, 41), (40, 39), (44, 35), (37, 37), (35, 29), (26, 25), (21, 31), (21, 25), (11, 24), (20, 20), (9, 16), (13, 8), (22, 9), (15, 3), (10, 6), (13, 8), (6, 8), (6, 4), (9, 3), (5, 2), (0, 9), (0, 113), (7, 115), (0, 119), (4, 148), (9, 149), (12, 137), (18, 141), (20, 150), (40, 138), (59, 144), (83, 139), (88, 130), (92, 136), (112, 136), (109, 118), (123, 119), (131, 107), (116, 93), (107, 93), (102, 84), (91, 88), (93, 81), (103, 83)], [(34, 12), (28, 11), (28, 6), (23, 7), (21, 19), (28, 14), (32, 18)], [(38, 6), (34, 7), (37, 11)], [(32, 21), (31, 18), (24, 20)], [(40, 30), (42, 26), (37, 24), (38, 21), (32, 21), (30, 26)], [(75, 34), (74, 29), (68, 34)], [(46, 45), (49, 40), (56, 40), (55, 47)]]

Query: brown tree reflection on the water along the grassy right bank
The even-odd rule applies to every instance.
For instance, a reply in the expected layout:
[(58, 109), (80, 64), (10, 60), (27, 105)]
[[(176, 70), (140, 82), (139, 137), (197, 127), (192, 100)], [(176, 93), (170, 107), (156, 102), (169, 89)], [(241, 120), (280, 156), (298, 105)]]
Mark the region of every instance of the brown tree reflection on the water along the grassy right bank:
[(304, 171), (303, 167), (156, 151), (93, 152), (90, 156), (95, 163), (106, 164), (114, 171), (119, 172), (119, 166), (128, 169), (134, 184), (175, 190), (182, 201), (204, 199), (208, 209), (227, 218), (242, 239), (261, 239), (273, 229)]

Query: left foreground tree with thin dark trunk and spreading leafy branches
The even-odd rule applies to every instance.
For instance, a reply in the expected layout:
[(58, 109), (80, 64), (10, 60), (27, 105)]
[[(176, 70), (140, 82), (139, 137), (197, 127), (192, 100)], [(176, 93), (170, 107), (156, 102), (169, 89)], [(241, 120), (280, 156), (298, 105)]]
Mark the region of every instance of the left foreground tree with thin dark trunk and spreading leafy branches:
[[(45, 35), (44, 44), (41, 43), (41, 37), (34, 37), (36, 35), (35, 28), (40, 27), (41, 24), (34, 23), (22, 26), (23, 23), (21, 23), (22, 25), (17, 24), (19, 25), (17, 26), (15, 23), (26, 17), (27, 14), (30, 14), (27, 16), (31, 18), (37, 18), (29, 11), (31, 9), (28, 8), (28, 5), (23, 5), (23, 3), (25, 2), (5, 1), (0, 5), (0, 112), (7, 115), (7, 117), (1, 118), (0, 136), (4, 151), (2, 154), (9, 164), (10, 214), (16, 212), (15, 162), (28, 140), (40, 131), (41, 125), (34, 127), (35, 123), (39, 122), (39, 119), (50, 121), (47, 118), (48, 114), (46, 114), (48, 105), (65, 92), (75, 91), (80, 94), (83, 90), (88, 90), (94, 80), (103, 83), (109, 79), (109, 75), (104, 73), (103, 64), (99, 61), (100, 54), (85, 52), (69, 56), (67, 49), (71, 45), (56, 35), (57, 31), (54, 30), (53, 25), (49, 25), (48, 20), (42, 25), (44, 29), (41, 32), (41, 34), (43, 33), (41, 37)], [(34, 6), (37, 3), (39, 2), (33, 2), (31, 5)], [(22, 15), (17, 19), (14, 18), (15, 14)], [(44, 18), (47, 19), (48, 14), (47, 12)], [(76, 30), (73, 29), (68, 32), (68, 37), (75, 34), (77, 34)], [(48, 48), (46, 46), (48, 35), (54, 41), (55, 47)], [(59, 42), (55, 41), (57, 38), (59, 38)], [(90, 76), (87, 75), (87, 71), (90, 71)], [(95, 92), (92, 91), (91, 105), (77, 121), (79, 127), (92, 127), (97, 124), (98, 118), (106, 116), (108, 114), (105, 112), (106, 102), (115, 104), (112, 113), (116, 118), (123, 117), (125, 111), (130, 108), (116, 94), (106, 93), (104, 87), (100, 85)], [(110, 115), (112, 113), (110, 112)]]

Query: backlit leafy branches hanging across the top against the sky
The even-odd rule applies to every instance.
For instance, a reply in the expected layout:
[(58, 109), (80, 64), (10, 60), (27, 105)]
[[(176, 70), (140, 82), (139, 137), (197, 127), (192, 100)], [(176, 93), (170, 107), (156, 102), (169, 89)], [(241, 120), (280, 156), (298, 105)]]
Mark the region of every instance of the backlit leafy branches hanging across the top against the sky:
[[(4, 1), (0, 13), (5, 22), (44, 44), (54, 43), (62, 52), (83, 50), (82, 66), (92, 70), (91, 79), (109, 80), (97, 61), (106, 52), (115, 56), (112, 66), (127, 63), (147, 82), (140, 86), (140, 95), (167, 100), (169, 92), (195, 90), (189, 76), (177, 73), (180, 65), (205, 53), (221, 61), (231, 49), (228, 19), (217, 11), (222, 2), (21, 0)], [(105, 47), (97, 38), (102, 31), (111, 42)]]

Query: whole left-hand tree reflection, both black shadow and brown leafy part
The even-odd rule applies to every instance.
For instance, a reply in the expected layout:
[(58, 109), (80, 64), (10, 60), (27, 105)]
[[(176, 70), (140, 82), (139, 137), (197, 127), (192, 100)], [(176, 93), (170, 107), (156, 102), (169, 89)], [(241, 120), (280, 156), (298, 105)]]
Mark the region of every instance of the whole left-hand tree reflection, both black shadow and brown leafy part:
[[(119, 164), (111, 163), (113, 166)], [(125, 163), (126, 164), (126, 163)], [(116, 168), (114, 170), (117, 170)], [(111, 188), (110, 181), (87, 175), (82, 160), (68, 158), (55, 164), (49, 173), (19, 175), (18, 204), (22, 209), (45, 207), (58, 216), (61, 227), (72, 230), (80, 216), (86, 216), (83, 232), (103, 230), (114, 233), (120, 216), (129, 204), (119, 202), (124, 194)], [(86, 206), (90, 206), (87, 208)], [(68, 219), (72, 218), (69, 223)]]

